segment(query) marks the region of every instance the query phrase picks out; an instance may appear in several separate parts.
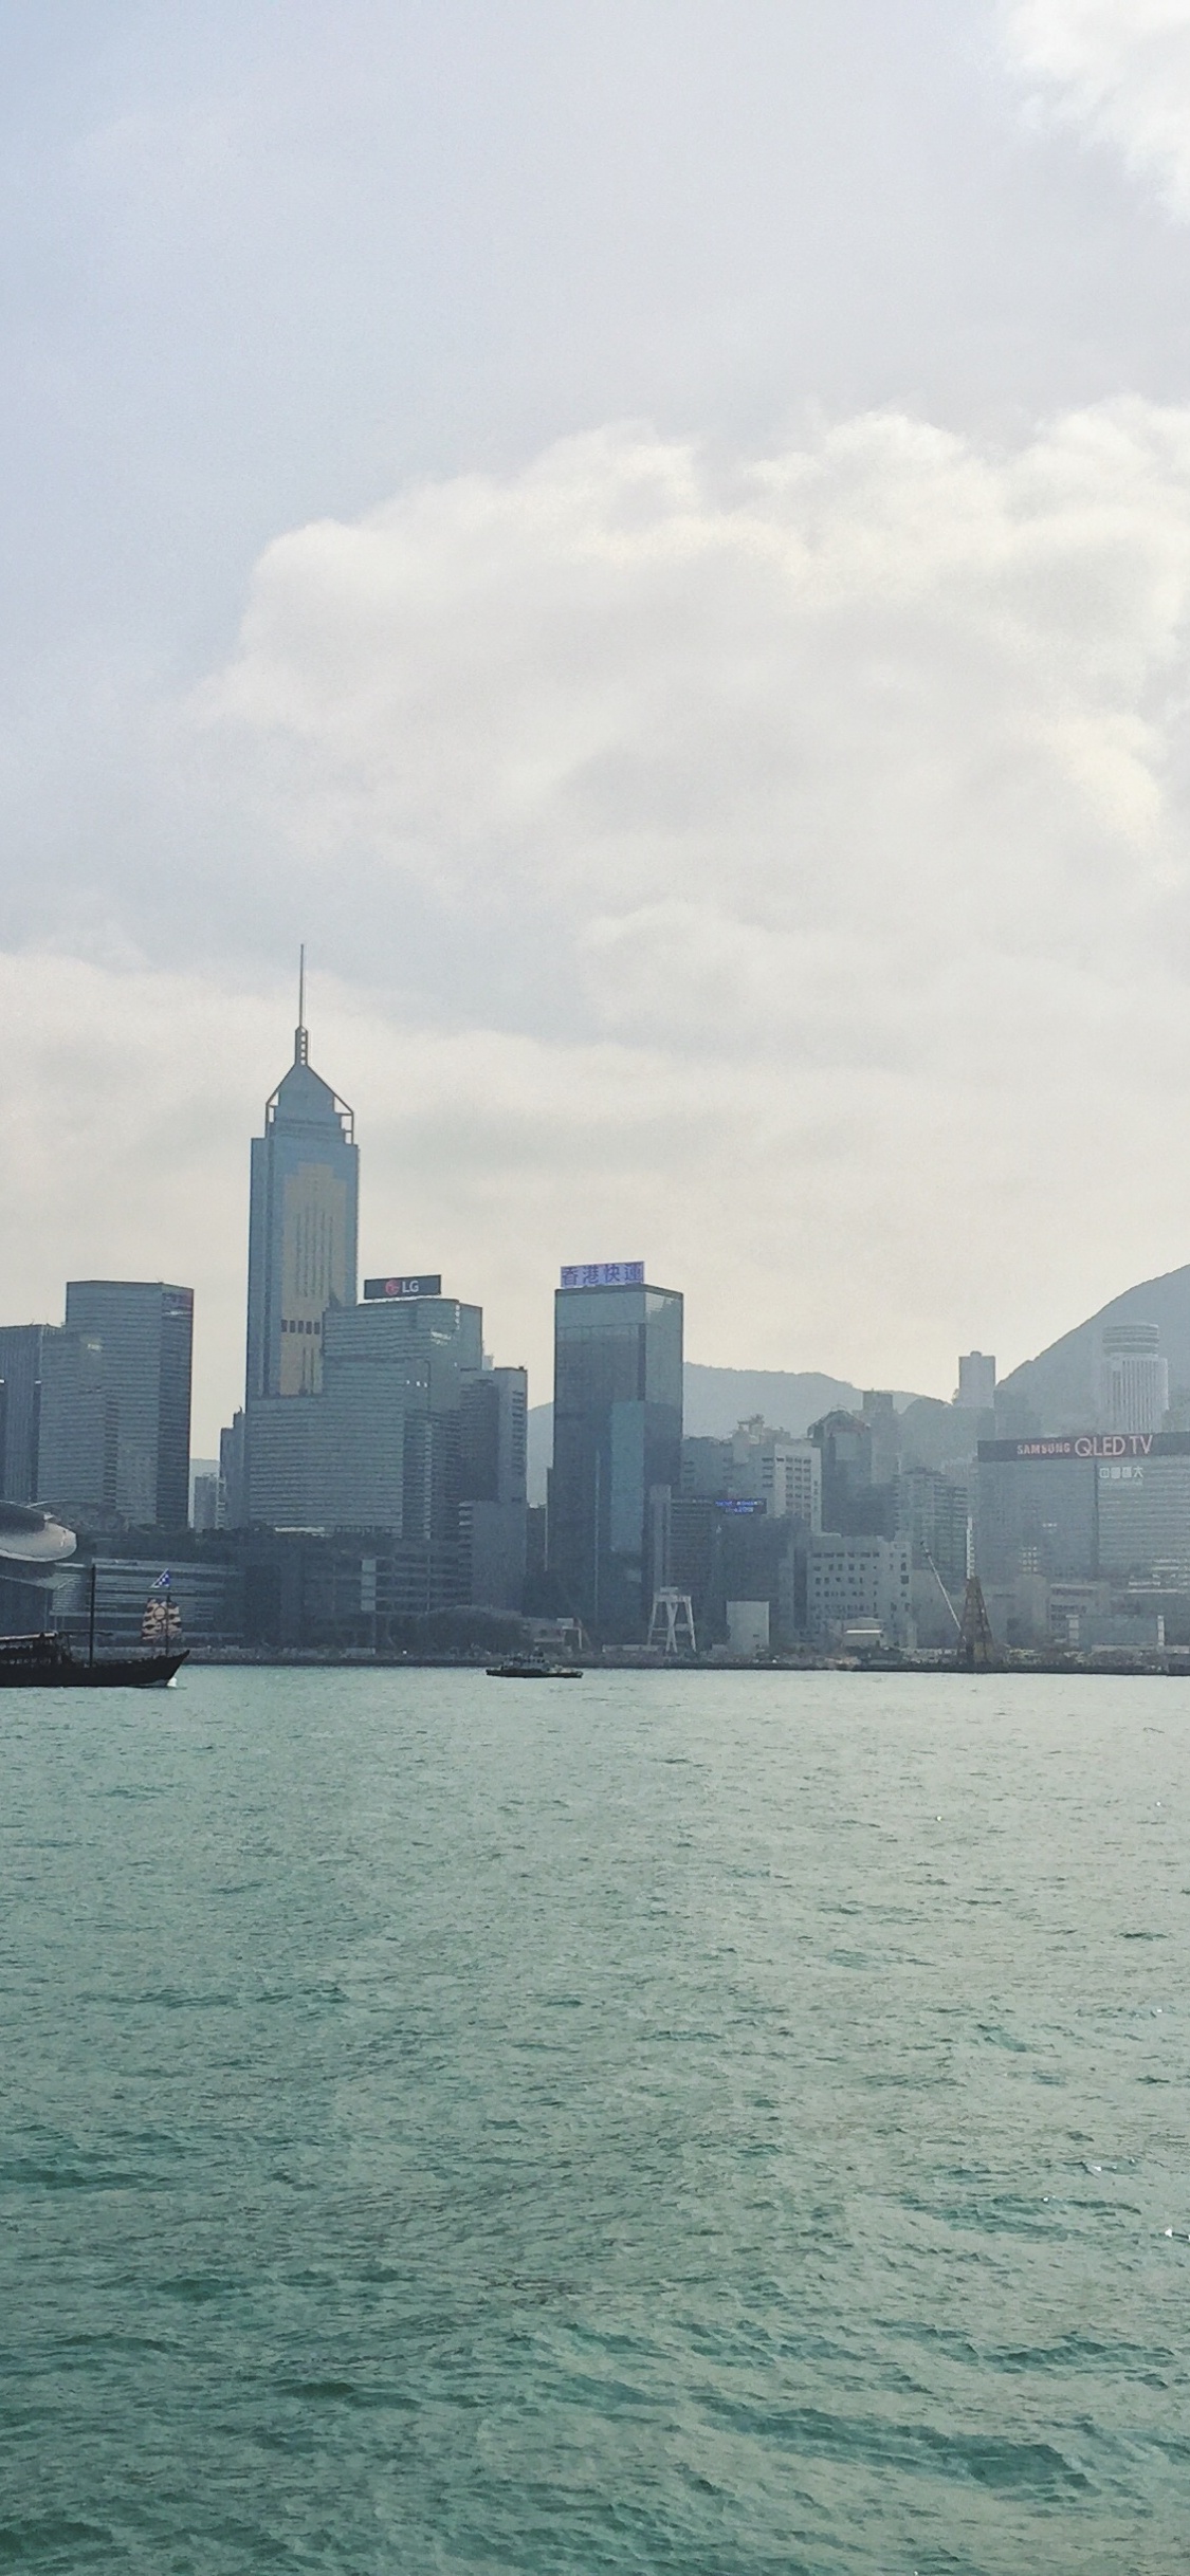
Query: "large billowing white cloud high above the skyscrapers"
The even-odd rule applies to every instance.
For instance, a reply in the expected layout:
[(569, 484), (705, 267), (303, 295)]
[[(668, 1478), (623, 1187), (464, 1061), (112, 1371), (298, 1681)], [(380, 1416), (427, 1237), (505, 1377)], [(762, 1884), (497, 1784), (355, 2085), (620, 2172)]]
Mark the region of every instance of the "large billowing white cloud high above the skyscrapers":
[(1159, 840), (1187, 502), (1190, 420), (1138, 402), (1012, 456), (608, 430), (281, 538), (203, 719), (312, 871), (492, 925), (729, 886), (765, 930), (1046, 948)]

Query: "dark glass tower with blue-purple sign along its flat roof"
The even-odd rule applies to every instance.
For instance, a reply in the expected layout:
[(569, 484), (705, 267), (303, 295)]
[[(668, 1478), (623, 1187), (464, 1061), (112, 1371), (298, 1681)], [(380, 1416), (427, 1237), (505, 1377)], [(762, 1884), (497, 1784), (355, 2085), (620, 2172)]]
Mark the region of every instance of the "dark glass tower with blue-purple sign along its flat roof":
[(549, 1571), (608, 1641), (644, 1641), (665, 1582), (657, 1530), (683, 1481), (683, 1298), (574, 1285), (554, 1301)]

